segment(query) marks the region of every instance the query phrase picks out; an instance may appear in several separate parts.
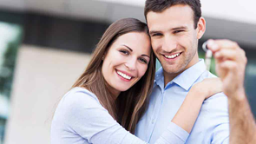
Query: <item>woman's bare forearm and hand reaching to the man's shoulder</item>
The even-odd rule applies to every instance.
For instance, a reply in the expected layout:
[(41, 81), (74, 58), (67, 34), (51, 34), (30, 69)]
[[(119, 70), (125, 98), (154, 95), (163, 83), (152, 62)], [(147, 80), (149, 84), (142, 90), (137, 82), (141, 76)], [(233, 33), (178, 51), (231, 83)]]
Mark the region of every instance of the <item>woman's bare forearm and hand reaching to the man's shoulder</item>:
[(194, 84), (172, 122), (186, 130), (187, 133), (190, 133), (199, 115), (203, 101), (219, 93), (221, 86), (222, 83), (219, 78), (207, 78), (202, 82)]

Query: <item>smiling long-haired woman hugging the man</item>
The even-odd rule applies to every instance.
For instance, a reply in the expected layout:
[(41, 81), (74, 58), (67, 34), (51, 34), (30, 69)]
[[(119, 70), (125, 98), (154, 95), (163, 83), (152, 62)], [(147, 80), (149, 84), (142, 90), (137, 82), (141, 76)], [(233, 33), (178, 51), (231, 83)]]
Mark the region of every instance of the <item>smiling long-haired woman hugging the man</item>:
[[(133, 134), (147, 108), (154, 84), (154, 65), (145, 23), (126, 18), (111, 24), (97, 44), (87, 69), (56, 108), (51, 142), (145, 143)], [(207, 86), (206, 82), (215, 85), (218, 81), (200, 82), (191, 88), (172, 121), (188, 133), (202, 101), (220, 90)], [(206, 90), (201, 92), (202, 87)], [(175, 128), (167, 128), (156, 143), (178, 141), (174, 131)]]

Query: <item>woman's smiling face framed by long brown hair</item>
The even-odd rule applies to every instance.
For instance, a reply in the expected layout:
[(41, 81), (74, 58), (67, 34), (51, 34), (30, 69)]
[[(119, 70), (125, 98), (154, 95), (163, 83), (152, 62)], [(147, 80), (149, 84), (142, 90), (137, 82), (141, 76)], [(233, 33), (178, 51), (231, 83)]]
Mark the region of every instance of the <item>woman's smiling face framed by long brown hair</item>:
[(131, 88), (148, 69), (150, 40), (144, 32), (119, 36), (103, 58), (102, 74), (114, 95)]

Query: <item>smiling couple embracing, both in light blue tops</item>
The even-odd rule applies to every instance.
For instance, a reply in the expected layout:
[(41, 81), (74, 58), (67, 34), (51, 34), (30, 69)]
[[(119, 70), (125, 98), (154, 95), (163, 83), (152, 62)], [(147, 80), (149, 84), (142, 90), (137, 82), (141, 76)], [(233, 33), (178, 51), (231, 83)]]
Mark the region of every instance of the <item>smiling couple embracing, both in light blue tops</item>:
[[(198, 56), (206, 30), (200, 0), (147, 0), (144, 14), (147, 24), (125, 18), (105, 31), (56, 108), (52, 144), (229, 143), (226, 95), (243, 88), (233, 85), (243, 82), (244, 51), (208, 41), (220, 81)], [(236, 81), (226, 76), (230, 61), (242, 68)]]

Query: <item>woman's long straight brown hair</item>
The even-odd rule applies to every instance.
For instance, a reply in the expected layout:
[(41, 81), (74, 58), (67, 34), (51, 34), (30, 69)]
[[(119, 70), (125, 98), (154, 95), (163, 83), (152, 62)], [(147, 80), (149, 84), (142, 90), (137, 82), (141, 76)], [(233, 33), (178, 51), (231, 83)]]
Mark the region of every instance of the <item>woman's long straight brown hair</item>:
[(102, 75), (102, 57), (119, 36), (128, 32), (144, 32), (148, 34), (148, 27), (146, 23), (142, 23), (135, 18), (125, 18), (111, 24), (97, 44), (87, 69), (85, 69), (72, 88), (87, 88), (94, 93), (102, 103), (102, 106), (108, 110), (108, 113), (123, 128), (134, 134), (137, 122), (148, 107), (148, 95), (154, 85), (155, 56), (153, 51), (151, 50), (150, 61), (145, 75), (132, 88), (121, 92), (116, 100), (108, 90), (108, 83)]

